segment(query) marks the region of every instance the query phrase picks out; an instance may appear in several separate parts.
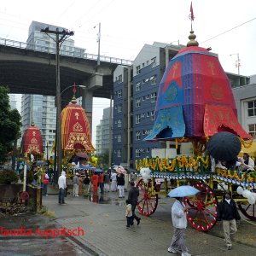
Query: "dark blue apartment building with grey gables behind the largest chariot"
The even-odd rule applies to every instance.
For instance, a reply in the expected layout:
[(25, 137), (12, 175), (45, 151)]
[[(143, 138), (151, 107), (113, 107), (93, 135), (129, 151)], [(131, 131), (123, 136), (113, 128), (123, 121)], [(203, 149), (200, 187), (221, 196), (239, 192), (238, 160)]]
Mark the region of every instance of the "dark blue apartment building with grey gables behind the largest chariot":
[(150, 156), (152, 148), (166, 147), (166, 143), (146, 142), (143, 139), (154, 125), (154, 108), (166, 65), (182, 48), (182, 45), (157, 42), (145, 44), (132, 67), (119, 66), (114, 71), (114, 164), (127, 163), (127, 166), (134, 168), (135, 161)]

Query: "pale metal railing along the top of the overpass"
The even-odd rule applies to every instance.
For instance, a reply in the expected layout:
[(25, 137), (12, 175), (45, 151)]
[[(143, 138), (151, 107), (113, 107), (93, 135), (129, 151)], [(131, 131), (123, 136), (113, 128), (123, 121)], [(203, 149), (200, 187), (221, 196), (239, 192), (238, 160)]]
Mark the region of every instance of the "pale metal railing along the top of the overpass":
[[(15, 47), (19, 49), (30, 49), (38, 52), (49, 53), (49, 54), (55, 54), (56, 52), (55, 48), (49, 48), (49, 47), (40, 46), (37, 44), (27, 44), (24, 42), (14, 41), (6, 38), (0, 38), (0, 44), (9, 46), (9, 47)], [(79, 49), (79, 48), (73, 47), (73, 49)], [(97, 61), (98, 59), (98, 55), (84, 52), (83, 49), (79, 49), (79, 51), (78, 50), (67, 51), (67, 50), (61, 49), (60, 55), (66, 55), (70, 57), (94, 60), (94, 61)], [(114, 63), (118, 65), (124, 65), (124, 66), (131, 66), (133, 64), (133, 61), (130, 61), (130, 60), (124, 60), (124, 59), (119, 59), (119, 58), (104, 56), (104, 55), (100, 55), (100, 61)]]

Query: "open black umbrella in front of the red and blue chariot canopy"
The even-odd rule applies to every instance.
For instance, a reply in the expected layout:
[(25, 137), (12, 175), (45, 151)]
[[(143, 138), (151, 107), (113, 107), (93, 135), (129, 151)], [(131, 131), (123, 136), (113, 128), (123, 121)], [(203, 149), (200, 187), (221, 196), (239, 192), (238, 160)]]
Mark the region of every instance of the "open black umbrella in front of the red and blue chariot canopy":
[(216, 160), (233, 160), (241, 150), (241, 142), (228, 131), (214, 134), (207, 143), (207, 151)]

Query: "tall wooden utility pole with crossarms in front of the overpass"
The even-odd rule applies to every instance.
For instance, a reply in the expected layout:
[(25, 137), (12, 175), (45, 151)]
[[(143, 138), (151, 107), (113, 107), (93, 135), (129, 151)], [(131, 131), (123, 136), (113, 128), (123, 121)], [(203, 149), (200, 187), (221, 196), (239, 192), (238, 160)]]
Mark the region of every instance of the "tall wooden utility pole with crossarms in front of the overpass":
[[(57, 114), (56, 114), (56, 133), (55, 133), (55, 148), (57, 149), (57, 170), (54, 170), (54, 177), (55, 177), (55, 184), (57, 184), (58, 177), (62, 171), (62, 148), (61, 148), (61, 79), (60, 79), (60, 49), (61, 44), (70, 36), (74, 35), (74, 32), (68, 32), (67, 30), (63, 29), (59, 31), (57, 27), (56, 30), (49, 30), (49, 27), (45, 29), (41, 29), (41, 32), (46, 33), (49, 38), (52, 38), (56, 43), (56, 107), (57, 107)], [(51, 37), (51, 34), (54, 34), (55, 37)], [(60, 38), (61, 36), (61, 38)], [(56, 161), (56, 159), (55, 159)], [(56, 166), (55, 166), (56, 167)]]

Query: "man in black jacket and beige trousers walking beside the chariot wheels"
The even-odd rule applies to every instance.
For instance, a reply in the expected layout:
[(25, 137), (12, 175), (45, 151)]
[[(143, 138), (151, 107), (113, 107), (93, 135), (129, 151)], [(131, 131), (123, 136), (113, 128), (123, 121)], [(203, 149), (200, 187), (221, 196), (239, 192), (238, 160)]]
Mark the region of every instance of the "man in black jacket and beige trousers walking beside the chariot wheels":
[(230, 236), (236, 234), (236, 220), (240, 220), (241, 217), (236, 208), (236, 202), (231, 198), (229, 190), (225, 191), (224, 199), (218, 204), (217, 220), (223, 224), (224, 238), (228, 250), (232, 248), (232, 241)]

